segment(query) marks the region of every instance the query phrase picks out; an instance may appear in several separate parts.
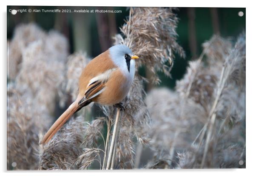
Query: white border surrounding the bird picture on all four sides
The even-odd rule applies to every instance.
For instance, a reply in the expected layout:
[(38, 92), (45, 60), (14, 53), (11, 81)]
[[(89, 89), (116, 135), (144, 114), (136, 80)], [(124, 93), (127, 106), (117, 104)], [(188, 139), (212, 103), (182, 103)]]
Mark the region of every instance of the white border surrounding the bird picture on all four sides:
[[(1, 53), (1, 77), (0, 81), (2, 85), (1, 88), (1, 120), (2, 120), (2, 140), (1, 140), (1, 171), (6, 172), (6, 5), (58, 5), (58, 6), (173, 6), (173, 7), (246, 7), (246, 169), (185, 169), (185, 170), (114, 170), (114, 171), (95, 171), (95, 170), (88, 170), (85, 172), (79, 171), (51, 171), (47, 172), (47, 175), (56, 175), (56, 173), (61, 172), (62, 176), (70, 175), (74, 173), (76, 175), (100, 175), (104, 174), (104, 176), (115, 176), (120, 175), (122, 176), (131, 176), (131, 174), (147, 174), (147, 175), (155, 175), (156, 173), (160, 173), (161, 175), (179, 175), (179, 176), (216, 176), (216, 175), (223, 175), (223, 174), (232, 174), (233, 176), (241, 176), (241, 175), (251, 175), (250, 173), (255, 173), (253, 170), (255, 167), (255, 124), (256, 124), (256, 88), (255, 88), (255, 71), (256, 70), (256, 58), (255, 58), (255, 7), (253, 1), (241, 1), (241, 0), (213, 0), (213, 1), (203, 1), (203, 0), (176, 0), (176, 1), (168, 1), (168, 0), (154, 0), (154, 1), (146, 1), (146, 2), (139, 2), (138, 0), (100, 0), (100, 1), (64, 1), (64, 0), (12, 0), (9, 2), (1, 1), (1, 39), (0, 42), (0, 53)], [(25, 172), (21, 171), (18, 173), (17, 171), (7, 172), (5, 174), (11, 175), (33, 175), (32, 171)], [(46, 172), (37, 171), (37, 175), (45, 176)]]

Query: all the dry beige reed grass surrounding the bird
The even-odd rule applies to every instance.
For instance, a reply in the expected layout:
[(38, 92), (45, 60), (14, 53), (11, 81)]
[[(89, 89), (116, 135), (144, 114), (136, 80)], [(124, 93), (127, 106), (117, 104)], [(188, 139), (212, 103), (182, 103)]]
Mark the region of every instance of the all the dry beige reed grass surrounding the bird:
[[(176, 41), (177, 22), (172, 8), (131, 8), (115, 43), (139, 55), (137, 70), (150, 69), (150, 81), (157, 84), (157, 71), (170, 76), (174, 53), (185, 56)], [(88, 123), (82, 113), (39, 146), (56, 102), (76, 98), (78, 77), (90, 59), (84, 53), (68, 57), (67, 40), (55, 31), (20, 25), (9, 41), (8, 169), (106, 169), (108, 160), (113, 169), (134, 168), (135, 161), (151, 169), (245, 168), (245, 33), (235, 45), (213, 36), (203, 47), (173, 91), (157, 88), (147, 95), (148, 80), (136, 71), (117, 137), (112, 137), (116, 108), (100, 106), (105, 118)], [(146, 148), (152, 157), (139, 163)]]

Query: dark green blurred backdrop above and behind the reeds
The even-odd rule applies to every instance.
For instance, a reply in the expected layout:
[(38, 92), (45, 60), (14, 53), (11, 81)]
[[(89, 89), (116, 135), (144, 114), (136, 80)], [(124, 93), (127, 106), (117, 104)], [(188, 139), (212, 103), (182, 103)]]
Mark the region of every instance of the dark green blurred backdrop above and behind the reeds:
[[(33, 6), (24, 8), (36, 9)], [(9, 9), (19, 7), (8, 6)], [(7, 13), (7, 39), (11, 39), (14, 28), (20, 23), (34, 22), (44, 30), (58, 30), (68, 38), (69, 52), (85, 51), (88, 56), (94, 58), (107, 50), (113, 43), (112, 37), (119, 33), (119, 27), (124, 24), (124, 19), (129, 16), (126, 7), (54, 7), (41, 6), (41, 9), (103, 9), (120, 10), (122, 13)], [(179, 18), (177, 33), (178, 42), (186, 53), (186, 58), (174, 60), (170, 80), (162, 73), (158, 73), (162, 82), (157, 86), (169, 88), (175, 87), (176, 80), (183, 77), (189, 60), (197, 58), (201, 52), (201, 44), (213, 34), (231, 39), (245, 30), (245, 8), (177, 8), (175, 10)], [(61, 45), (61, 44), (60, 44)], [(140, 68), (139, 74), (147, 77), (146, 70)], [(149, 91), (152, 86), (146, 85)]]

